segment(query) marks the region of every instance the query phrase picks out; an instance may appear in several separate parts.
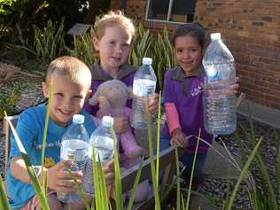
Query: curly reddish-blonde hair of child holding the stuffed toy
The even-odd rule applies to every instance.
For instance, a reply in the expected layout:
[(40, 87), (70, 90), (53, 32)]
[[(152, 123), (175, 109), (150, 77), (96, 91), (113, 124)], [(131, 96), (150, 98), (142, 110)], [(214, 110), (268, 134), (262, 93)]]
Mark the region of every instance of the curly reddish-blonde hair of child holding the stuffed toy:
[(121, 11), (117, 10), (116, 12), (107, 12), (101, 16), (101, 18), (97, 19), (94, 24), (95, 36), (100, 40), (105, 33), (106, 27), (114, 26), (121, 27), (128, 35), (131, 35), (132, 38), (136, 33), (133, 21), (128, 19)]

